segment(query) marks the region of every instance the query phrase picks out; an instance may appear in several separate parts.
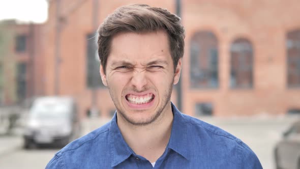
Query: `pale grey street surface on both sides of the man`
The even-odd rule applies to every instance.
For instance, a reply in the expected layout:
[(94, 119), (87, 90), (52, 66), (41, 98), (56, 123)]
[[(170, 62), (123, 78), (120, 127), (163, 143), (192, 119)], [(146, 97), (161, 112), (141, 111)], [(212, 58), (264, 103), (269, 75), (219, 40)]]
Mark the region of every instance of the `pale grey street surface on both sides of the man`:
[[(298, 117), (297, 117), (298, 118)], [(245, 142), (258, 156), (263, 168), (273, 169), (274, 146), (281, 139), (282, 132), (296, 120), (295, 117), (255, 117), (255, 118), (201, 118), (201, 120), (219, 126), (232, 133)], [(83, 122), (85, 134), (108, 120), (90, 119)], [(53, 157), (58, 149), (36, 149), (23, 150), (21, 148), (21, 137), (14, 136), (12, 140), (4, 139), (0, 136), (1, 146), (10, 145), (15, 142), (19, 147), (11, 152), (1, 154), (0, 168), (45, 168), (46, 164)], [(0, 147), (1, 148), (1, 147)], [(1, 149), (0, 149), (1, 151)]]

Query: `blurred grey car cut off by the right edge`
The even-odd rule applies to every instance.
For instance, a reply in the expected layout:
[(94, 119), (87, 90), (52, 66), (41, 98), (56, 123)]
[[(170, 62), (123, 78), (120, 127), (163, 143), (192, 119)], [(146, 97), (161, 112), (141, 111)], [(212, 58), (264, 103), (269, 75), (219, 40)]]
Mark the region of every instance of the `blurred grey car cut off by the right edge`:
[(275, 162), (277, 169), (300, 169), (300, 121), (284, 132), (276, 145)]

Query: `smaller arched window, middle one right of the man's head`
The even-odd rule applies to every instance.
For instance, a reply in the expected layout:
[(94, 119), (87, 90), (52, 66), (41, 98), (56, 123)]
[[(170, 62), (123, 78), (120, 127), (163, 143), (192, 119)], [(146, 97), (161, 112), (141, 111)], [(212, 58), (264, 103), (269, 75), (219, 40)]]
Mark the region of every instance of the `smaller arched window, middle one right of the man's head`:
[(250, 41), (238, 38), (230, 46), (230, 87), (247, 89), (253, 86), (253, 48)]

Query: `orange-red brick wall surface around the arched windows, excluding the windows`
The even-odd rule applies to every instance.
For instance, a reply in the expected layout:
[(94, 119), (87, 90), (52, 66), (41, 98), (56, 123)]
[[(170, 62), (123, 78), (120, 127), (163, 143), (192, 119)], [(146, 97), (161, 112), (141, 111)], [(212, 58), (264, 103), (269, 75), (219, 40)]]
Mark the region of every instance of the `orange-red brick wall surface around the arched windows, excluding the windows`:
[[(61, 63), (59, 95), (72, 95), (81, 116), (91, 107), (92, 91), (86, 87), (86, 35), (94, 30), (93, 1), (64, 1), (62, 10)], [(76, 7), (76, 2), (81, 3)], [(175, 12), (175, 1), (100, 1), (98, 24), (115, 8), (145, 3)], [(76, 8), (75, 8), (76, 7)], [(49, 7), (44, 25), (45, 94), (54, 94), (55, 2)], [(74, 10), (72, 10), (74, 8)], [(72, 11), (72, 12), (70, 12)], [(195, 115), (195, 104), (210, 102), (215, 116), (284, 114), (300, 108), (300, 90), (286, 85), (285, 35), (300, 29), (300, 1), (182, 1), (182, 19), (186, 27), (183, 62), (183, 112)], [(190, 41), (199, 31), (214, 33), (218, 40), (219, 87), (190, 88)], [(253, 45), (253, 88), (230, 89), (230, 45), (236, 38), (246, 38)], [(99, 79), (100, 80), (100, 79)], [(102, 116), (114, 109), (107, 89), (97, 90)], [(172, 100), (175, 99), (173, 93)]]

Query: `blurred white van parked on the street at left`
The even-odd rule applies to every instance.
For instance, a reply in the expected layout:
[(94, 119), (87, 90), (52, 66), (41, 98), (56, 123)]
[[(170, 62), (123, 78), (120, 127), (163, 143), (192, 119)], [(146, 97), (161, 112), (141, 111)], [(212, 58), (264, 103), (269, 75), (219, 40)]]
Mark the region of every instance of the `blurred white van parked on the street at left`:
[(77, 107), (70, 97), (40, 97), (29, 109), (24, 148), (65, 146), (80, 135)]

